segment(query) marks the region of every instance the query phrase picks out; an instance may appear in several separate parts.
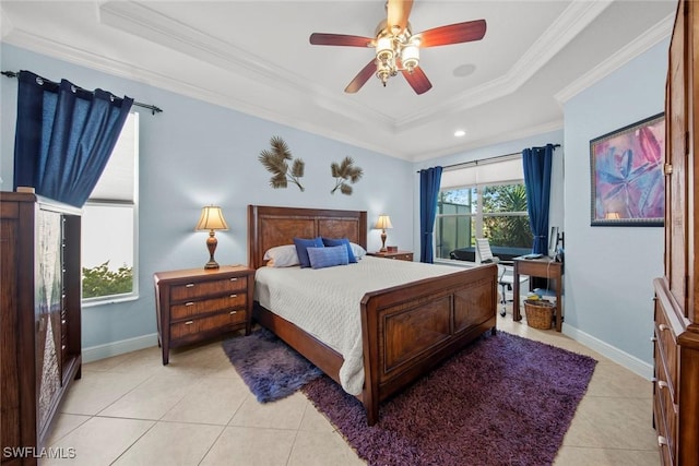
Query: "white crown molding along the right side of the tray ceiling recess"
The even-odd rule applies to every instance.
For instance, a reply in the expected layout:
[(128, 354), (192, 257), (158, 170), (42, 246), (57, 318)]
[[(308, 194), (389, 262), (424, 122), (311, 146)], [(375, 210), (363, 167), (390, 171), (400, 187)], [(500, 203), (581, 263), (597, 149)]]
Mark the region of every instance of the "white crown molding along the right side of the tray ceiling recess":
[(454, 96), (446, 105), (429, 107), (419, 112), (407, 115), (396, 121), (396, 129), (400, 131), (410, 130), (437, 115), (443, 116), (463, 111), (513, 94), (588, 27), (609, 4), (612, 1), (572, 1), (506, 74)]

